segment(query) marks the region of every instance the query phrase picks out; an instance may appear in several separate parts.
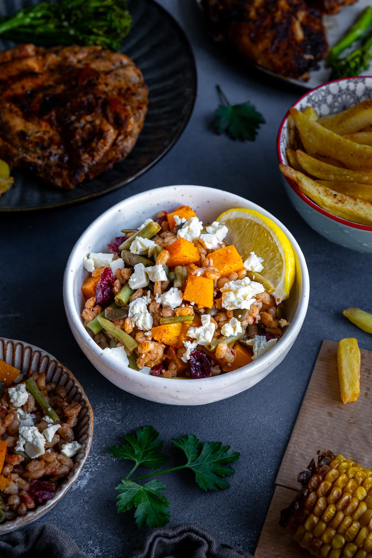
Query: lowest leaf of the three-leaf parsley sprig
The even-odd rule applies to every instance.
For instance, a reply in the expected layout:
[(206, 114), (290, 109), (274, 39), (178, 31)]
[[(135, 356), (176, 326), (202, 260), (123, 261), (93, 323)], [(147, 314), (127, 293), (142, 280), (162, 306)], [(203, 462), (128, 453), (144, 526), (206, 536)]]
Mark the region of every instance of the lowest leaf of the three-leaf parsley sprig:
[(169, 522), (169, 502), (161, 494), (166, 487), (158, 480), (150, 480), (147, 484), (134, 483), (133, 480), (123, 479), (116, 490), (120, 492), (117, 497), (119, 512), (128, 511), (136, 507), (134, 517), (139, 528), (163, 527)]

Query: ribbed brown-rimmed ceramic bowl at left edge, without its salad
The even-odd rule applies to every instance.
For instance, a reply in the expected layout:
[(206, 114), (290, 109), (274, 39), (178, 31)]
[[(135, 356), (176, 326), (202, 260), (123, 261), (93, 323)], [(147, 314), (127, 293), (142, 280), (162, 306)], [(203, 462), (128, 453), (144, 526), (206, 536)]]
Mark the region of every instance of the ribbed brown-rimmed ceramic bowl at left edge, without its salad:
[(75, 440), (83, 446), (73, 459), (74, 469), (61, 480), (54, 498), (39, 504), (35, 509), (28, 510), (23, 517), (17, 517), (2, 523), (0, 525), (0, 535), (3, 535), (4, 533), (26, 527), (33, 521), (36, 521), (36, 519), (44, 516), (46, 512), (49, 512), (65, 496), (67, 490), (78, 479), (86, 458), (88, 458), (93, 439), (93, 410), (75, 376), (57, 359), (52, 357), (51, 354), (46, 353), (45, 350), (39, 349), (34, 345), (22, 343), (22, 341), (0, 338), (0, 360), (5, 360), (8, 364), (12, 364), (23, 374), (28, 374), (30, 369), (38, 373), (45, 372), (47, 382), (56, 382), (59, 386), (65, 386), (67, 397), (81, 405), (78, 424), (74, 430)]

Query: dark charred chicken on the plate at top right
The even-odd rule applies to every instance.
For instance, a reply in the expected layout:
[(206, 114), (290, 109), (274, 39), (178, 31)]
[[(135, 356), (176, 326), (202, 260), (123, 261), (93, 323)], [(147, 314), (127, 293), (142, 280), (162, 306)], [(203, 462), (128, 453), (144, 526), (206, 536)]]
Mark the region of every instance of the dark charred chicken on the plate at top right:
[(308, 79), (328, 44), (321, 12), (305, 0), (202, 0), (215, 40), (289, 78)]

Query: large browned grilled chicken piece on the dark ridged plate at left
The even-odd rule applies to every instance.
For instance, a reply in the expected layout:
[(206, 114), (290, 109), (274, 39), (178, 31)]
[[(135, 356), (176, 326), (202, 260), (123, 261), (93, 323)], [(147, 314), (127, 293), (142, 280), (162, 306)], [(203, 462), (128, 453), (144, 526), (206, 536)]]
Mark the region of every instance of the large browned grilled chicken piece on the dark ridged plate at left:
[(0, 158), (73, 189), (131, 152), (147, 112), (141, 71), (99, 46), (0, 52)]

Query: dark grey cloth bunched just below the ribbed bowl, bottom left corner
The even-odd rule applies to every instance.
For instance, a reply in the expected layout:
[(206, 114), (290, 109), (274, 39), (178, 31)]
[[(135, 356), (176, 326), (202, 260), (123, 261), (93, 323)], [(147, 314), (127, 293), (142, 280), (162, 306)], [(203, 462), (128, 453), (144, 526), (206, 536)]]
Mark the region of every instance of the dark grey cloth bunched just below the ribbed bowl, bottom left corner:
[(50, 523), (0, 537), (1, 558), (89, 558), (71, 537)]

